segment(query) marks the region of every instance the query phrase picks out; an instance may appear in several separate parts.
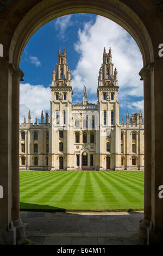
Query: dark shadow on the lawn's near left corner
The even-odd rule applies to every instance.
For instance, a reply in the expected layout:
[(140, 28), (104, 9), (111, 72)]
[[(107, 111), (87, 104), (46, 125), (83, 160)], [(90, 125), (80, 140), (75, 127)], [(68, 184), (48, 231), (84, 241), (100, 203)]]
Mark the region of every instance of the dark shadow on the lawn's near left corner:
[(51, 205), (42, 205), (42, 204), (29, 204), (20, 202), (20, 210), (21, 211), (48, 211), (48, 212), (66, 212), (66, 209), (53, 207)]

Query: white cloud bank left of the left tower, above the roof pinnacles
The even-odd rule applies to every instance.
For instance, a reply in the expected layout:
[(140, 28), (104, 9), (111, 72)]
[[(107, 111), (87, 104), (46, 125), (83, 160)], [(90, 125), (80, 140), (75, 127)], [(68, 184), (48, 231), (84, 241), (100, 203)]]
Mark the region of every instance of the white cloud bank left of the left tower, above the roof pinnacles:
[(40, 119), (41, 111), (50, 111), (51, 89), (43, 85), (33, 86), (29, 83), (20, 84), (20, 123), (23, 123), (24, 117), (28, 122), (28, 111), (30, 110), (31, 123), (34, 123), (35, 117)]

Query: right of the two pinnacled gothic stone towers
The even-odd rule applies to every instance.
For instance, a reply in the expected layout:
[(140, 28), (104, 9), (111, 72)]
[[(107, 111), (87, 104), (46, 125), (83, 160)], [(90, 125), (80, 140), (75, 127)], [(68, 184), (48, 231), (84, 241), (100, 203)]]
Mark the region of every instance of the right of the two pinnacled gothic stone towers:
[[(120, 154), (118, 89), (117, 69), (114, 69), (114, 64), (112, 63), (111, 48), (108, 53), (104, 48), (103, 63), (99, 69), (97, 88), (98, 111), (100, 113), (100, 128), (99, 135), (97, 135), (100, 145), (97, 147), (97, 151), (99, 158), (101, 158), (103, 145), (106, 145), (108, 154), (108, 157), (106, 157), (108, 160), (108, 162), (106, 161), (107, 169), (110, 169), (110, 165), (116, 168), (116, 159), (120, 157), (118, 156)], [(99, 161), (102, 162), (102, 159)]]

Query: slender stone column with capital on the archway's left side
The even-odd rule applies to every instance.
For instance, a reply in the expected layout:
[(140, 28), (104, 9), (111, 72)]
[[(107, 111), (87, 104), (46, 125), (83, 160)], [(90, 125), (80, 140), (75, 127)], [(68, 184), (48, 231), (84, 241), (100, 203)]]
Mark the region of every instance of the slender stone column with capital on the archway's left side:
[(24, 241), (25, 226), (20, 219), (20, 179), (19, 179), (19, 94), (20, 81), (24, 76), (22, 70), (13, 64), (9, 65), (12, 75), (12, 221), (11, 228), (15, 230), (15, 241)]

